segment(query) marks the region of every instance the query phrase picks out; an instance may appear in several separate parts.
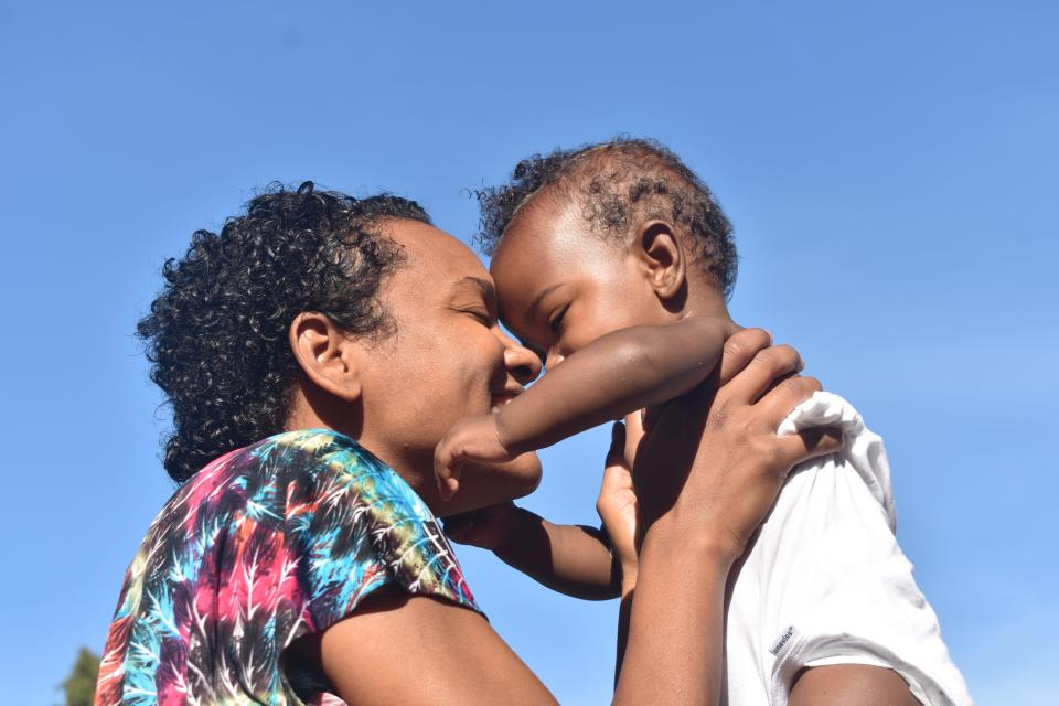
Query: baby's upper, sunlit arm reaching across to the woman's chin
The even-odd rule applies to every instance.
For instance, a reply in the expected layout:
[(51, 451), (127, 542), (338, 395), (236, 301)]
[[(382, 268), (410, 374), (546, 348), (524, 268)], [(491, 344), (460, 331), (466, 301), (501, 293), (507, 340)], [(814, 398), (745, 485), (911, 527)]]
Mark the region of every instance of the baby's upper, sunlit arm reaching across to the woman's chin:
[(511, 460), (691, 391), (717, 366), (734, 329), (692, 317), (600, 336), (498, 413), (461, 419), (446, 434), (436, 453), (442, 499), (456, 493), (466, 461)]

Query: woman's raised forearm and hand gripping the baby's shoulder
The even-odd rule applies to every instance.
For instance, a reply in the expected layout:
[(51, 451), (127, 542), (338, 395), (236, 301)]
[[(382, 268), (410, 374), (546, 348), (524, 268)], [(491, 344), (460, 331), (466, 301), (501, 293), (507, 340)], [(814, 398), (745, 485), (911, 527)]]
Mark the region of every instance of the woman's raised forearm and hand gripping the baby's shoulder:
[[(752, 344), (752, 335), (758, 334), (726, 345), (719, 377), (730, 382), (716, 392), (702, 386), (666, 405), (639, 446), (633, 481), (648, 533), (617, 689), (630, 703), (717, 703), (728, 570), (790, 468), (841, 446), (831, 430), (796, 439), (775, 435), (780, 421), (820, 384), (791, 377), (772, 387), (778, 376), (801, 367), (789, 346), (757, 353), (744, 370), (739, 347)], [(741, 372), (732, 375), (732, 370)], [(681, 530), (689, 526), (702, 531)], [(666, 561), (684, 569), (682, 578), (663, 580), (659, 565)], [(668, 608), (695, 601), (699, 610), (685, 614)], [(666, 685), (662, 702), (651, 689), (652, 678)]]

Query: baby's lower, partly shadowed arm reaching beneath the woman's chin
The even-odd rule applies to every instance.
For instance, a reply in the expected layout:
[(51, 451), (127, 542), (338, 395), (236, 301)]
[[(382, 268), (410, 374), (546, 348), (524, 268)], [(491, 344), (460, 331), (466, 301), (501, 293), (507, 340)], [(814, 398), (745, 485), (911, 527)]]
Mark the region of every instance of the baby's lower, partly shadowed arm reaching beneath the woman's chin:
[(501, 503), (449, 517), (445, 530), (453, 541), (490, 549), (554, 591), (586, 600), (619, 595), (620, 569), (606, 533), (596, 527), (556, 525)]

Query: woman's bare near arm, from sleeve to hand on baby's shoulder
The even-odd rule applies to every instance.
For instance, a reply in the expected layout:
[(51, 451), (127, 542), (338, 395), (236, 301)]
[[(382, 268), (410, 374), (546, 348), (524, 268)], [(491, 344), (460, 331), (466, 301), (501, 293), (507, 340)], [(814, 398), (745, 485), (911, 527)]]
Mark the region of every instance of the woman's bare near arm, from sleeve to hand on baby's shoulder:
[[(780, 356), (758, 356), (740, 391), (760, 393), (768, 383), (759, 385), (758, 377), (771, 382), (790, 372), (780, 363)], [(790, 404), (782, 415), (809, 396), (805, 385), (788, 381), (766, 399), (778, 391), (779, 406)], [(725, 403), (705, 422), (691, 467), (666, 466), (680, 454), (653, 457), (660, 467), (652, 475), (683, 481), (675, 499), (651, 495), (662, 502), (652, 505), (616, 704), (716, 704), (723, 603), (714, 597), (724, 593), (727, 567), (791, 466), (837, 448), (834, 440), (777, 437), (782, 415), (775, 408)], [(347, 703), (555, 703), (484, 618), (431, 598), (370, 598), (324, 631), (319, 649), (324, 674)]]

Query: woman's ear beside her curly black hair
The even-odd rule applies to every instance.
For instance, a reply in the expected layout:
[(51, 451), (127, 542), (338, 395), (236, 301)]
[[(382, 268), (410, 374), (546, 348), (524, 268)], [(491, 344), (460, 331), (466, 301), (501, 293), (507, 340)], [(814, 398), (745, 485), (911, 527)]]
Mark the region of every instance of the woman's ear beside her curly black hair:
[(361, 349), (328, 317), (303, 311), (290, 324), (290, 350), (314, 385), (344, 402), (361, 396)]

